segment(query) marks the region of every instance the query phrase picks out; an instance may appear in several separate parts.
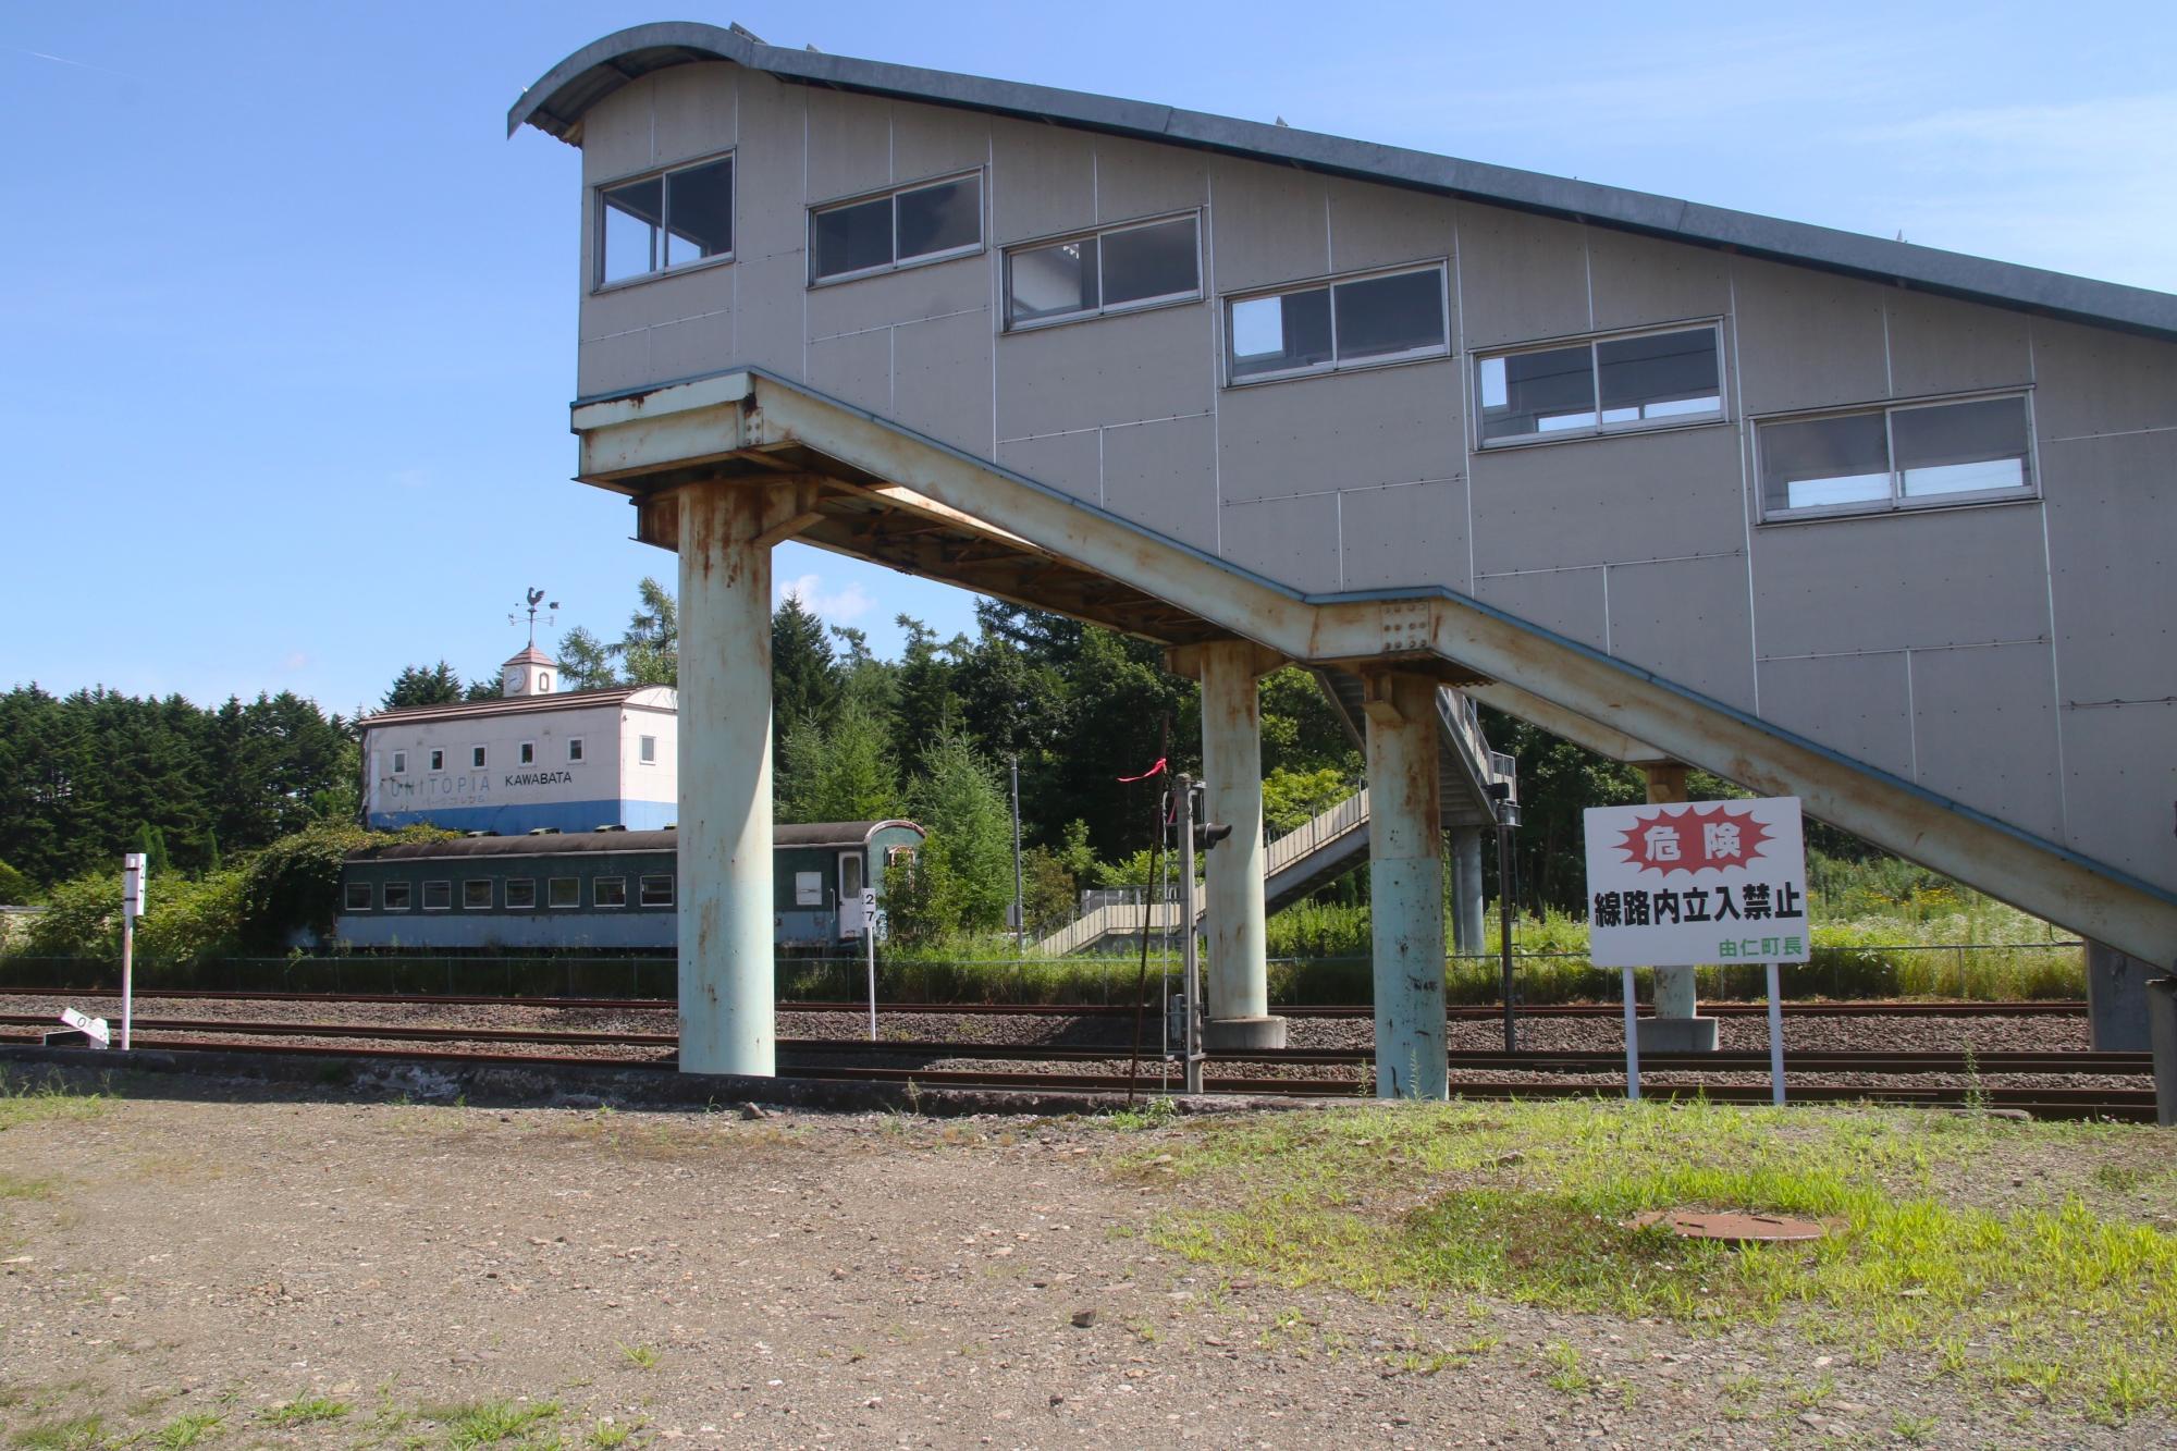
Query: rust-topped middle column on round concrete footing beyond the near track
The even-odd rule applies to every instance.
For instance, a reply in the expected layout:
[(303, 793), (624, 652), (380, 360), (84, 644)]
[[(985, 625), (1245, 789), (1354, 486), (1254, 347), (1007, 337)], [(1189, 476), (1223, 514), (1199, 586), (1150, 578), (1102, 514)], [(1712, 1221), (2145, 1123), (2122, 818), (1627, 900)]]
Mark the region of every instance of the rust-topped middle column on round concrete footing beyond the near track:
[(1263, 704), (1256, 680), (1274, 669), (1247, 641), (1197, 649), (1202, 675), (1202, 776), (1208, 819), (1232, 826), (1206, 863), (1210, 946), (1210, 1052), (1284, 1048), (1284, 1020), (1269, 1015), (1269, 961), (1263, 911)]

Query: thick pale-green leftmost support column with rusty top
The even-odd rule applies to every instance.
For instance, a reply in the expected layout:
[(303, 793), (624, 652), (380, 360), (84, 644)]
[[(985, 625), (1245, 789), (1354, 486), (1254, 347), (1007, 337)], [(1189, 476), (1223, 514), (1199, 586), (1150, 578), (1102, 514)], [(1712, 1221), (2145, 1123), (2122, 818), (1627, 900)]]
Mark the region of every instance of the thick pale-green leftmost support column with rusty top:
[(679, 1068), (777, 1072), (762, 488), (679, 490)]

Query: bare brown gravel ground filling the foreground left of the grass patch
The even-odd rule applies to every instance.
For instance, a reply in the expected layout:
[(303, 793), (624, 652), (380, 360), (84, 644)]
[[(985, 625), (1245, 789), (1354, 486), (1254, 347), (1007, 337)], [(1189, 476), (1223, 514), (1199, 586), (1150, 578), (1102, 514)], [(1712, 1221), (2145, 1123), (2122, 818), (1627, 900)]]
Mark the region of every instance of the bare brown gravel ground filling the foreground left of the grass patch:
[[(28, 1122), (0, 1135), (35, 1185), (0, 1198), (0, 1425), (433, 1447), (442, 1407), (507, 1401), (577, 1447), (2170, 1442), (1789, 1325), (1221, 1281), (1145, 1240), (1184, 1194), (1115, 1170), (1149, 1144), (266, 1098)], [(1550, 1346), (1594, 1386), (1554, 1388)]]

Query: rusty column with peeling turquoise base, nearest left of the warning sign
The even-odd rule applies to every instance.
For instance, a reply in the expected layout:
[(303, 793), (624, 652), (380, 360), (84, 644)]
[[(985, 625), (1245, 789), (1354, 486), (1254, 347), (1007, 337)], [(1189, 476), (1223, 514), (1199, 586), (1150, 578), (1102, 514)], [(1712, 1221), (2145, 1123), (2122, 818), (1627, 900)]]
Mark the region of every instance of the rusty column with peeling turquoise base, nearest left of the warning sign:
[(1446, 1098), (1437, 682), (1398, 671), (1369, 675), (1365, 708), (1376, 1096)]

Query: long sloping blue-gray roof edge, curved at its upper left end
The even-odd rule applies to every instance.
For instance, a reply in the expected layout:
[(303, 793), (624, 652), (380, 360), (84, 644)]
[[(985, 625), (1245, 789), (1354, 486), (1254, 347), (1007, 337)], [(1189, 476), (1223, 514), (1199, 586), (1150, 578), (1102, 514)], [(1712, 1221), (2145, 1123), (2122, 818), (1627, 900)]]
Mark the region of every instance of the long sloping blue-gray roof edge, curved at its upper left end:
[[(662, 63), (636, 74), (616, 65), (616, 61), (625, 61), (638, 52), (660, 52), (657, 59)], [(1911, 242), (1890, 242), (1833, 227), (1785, 222), (1781, 218), (1709, 207), (1674, 196), (1607, 187), (1594, 181), (1570, 181), (1565, 176), (1439, 157), (1402, 146), (1380, 146), (1376, 142), (1356, 142), (1317, 131), (1295, 131), (1291, 126), (1267, 126), (1230, 115), (1180, 111), (1143, 100), (786, 50), (697, 22), (631, 26), (583, 46), (544, 72), (507, 109), (507, 135), (514, 135), (522, 124), (531, 124), (546, 135), (570, 139), (581, 124), (581, 115), (627, 81), (649, 70), (703, 59), (734, 61), (751, 70), (812, 85), (1051, 120), (1088, 131), (1108, 131), (1361, 181), (1463, 196), (1520, 211), (1539, 211), (1620, 231), (1811, 266), (1846, 277), (1903, 283), (1975, 303), (1998, 303), (2073, 322), (2177, 340), (2177, 296), (2168, 292), (2151, 292), (2147, 288), (2073, 277), (2068, 272), (2051, 272), (1966, 253), (1946, 253)], [(599, 81), (605, 81), (605, 85), (599, 87)], [(564, 105), (555, 105), (562, 98), (566, 98)]]

